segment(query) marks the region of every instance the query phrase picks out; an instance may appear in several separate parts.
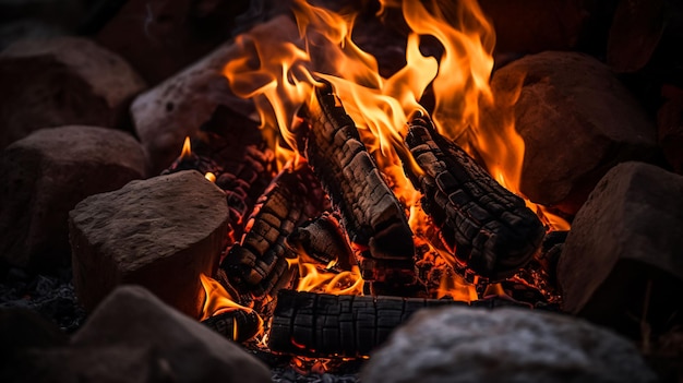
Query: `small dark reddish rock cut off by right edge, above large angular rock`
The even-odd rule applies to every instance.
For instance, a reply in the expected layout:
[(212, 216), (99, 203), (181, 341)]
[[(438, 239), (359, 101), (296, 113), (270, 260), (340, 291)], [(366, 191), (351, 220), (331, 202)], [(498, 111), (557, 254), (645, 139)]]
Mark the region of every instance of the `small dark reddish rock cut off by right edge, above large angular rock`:
[(673, 171), (683, 175), (683, 96), (668, 100), (659, 109), (657, 139)]

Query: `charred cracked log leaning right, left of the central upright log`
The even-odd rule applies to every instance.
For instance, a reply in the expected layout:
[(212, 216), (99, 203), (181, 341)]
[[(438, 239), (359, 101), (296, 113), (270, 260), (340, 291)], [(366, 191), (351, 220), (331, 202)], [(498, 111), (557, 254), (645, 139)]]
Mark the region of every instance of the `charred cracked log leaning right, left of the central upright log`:
[(296, 253), (286, 244), (297, 226), (320, 215), (328, 202), (305, 163), (285, 168), (259, 199), (241, 241), (220, 263), (224, 283), (242, 303), (274, 296), (291, 282), (286, 259)]

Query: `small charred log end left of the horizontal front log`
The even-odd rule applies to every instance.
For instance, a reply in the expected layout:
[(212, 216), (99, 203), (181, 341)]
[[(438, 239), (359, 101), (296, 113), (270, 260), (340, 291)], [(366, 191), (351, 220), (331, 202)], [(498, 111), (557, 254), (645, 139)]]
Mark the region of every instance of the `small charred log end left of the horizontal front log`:
[(261, 319), (251, 310), (228, 310), (202, 321), (202, 324), (238, 343), (253, 338), (261, 331)]

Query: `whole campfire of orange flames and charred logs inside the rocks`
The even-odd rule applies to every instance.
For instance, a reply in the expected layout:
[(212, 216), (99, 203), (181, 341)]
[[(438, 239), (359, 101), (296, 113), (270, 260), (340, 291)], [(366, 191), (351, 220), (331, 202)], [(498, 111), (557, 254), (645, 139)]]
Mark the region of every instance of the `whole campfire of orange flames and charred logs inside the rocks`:
[(384, 3), (378, 17), (402, 12), (409, 28), (386, 77), (352, 13), (293, 5), (296, 39), (279, 23), (240, 35), (223, 71), (261, 121), (263, 160), (242, 165), (269, 184), (253, 204), (235, 193), (221, 147), (237, 127), (187, 137), (165, 171), (206, 175), (235, 212), (217, 274), (202, 276), (204, 322), (274, 351), (364, 357), (421, 307), (559, 304), (541, 242), (568, 225), (519, 194), (514, 123), (482, 122), (494, 37), (479, 5)]

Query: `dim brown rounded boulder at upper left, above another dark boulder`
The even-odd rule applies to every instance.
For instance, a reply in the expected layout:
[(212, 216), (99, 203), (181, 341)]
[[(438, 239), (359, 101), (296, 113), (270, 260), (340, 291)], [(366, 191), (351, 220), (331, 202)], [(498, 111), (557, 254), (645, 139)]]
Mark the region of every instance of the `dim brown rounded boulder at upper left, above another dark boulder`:
[(76, 37), (21, 40), (0, 52), (0, 148), (65, 124), (115, 128), (144, 83), (118, 56)]

